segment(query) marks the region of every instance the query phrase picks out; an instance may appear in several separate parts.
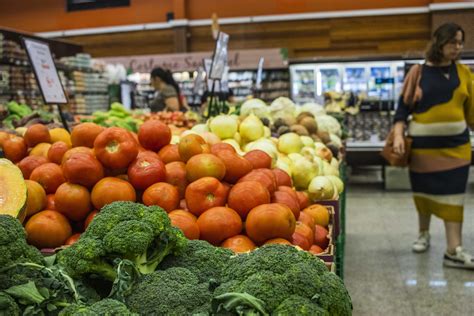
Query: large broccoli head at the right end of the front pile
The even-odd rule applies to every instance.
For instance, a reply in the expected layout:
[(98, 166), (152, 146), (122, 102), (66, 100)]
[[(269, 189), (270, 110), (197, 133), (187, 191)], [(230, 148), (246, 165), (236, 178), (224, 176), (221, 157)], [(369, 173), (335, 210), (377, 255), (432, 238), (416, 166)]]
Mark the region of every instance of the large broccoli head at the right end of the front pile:
[[(330, 315), (351, 315), (343, 282), (314, 255), (287, 245), (267, 245), (229, 259), (214, 299), (226, 293), (247, 293), (265, 302), (272, 313), (289, 297), (311, 300)], [(233, 302), (238, 298), (232, 297)], [(242, 301), (242, 306), (246, 306)], [(286, 306), (286, 305), (284, 305)], [(309, 305), (312, 306), (312, 305)], [(309, 308), (309, 307), (308, 307)], [(280, 312), (283, 314), (283, 307)]]

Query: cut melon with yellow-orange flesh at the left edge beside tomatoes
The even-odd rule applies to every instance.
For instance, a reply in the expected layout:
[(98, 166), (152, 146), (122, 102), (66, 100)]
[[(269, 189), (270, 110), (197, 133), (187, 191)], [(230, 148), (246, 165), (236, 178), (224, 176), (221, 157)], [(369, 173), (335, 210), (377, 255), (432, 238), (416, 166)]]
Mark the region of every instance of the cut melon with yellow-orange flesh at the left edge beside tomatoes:
[(0, 159), (0, 214), (11, 215), (23, 222), (27, 192), (20, 168), (8, 159)]

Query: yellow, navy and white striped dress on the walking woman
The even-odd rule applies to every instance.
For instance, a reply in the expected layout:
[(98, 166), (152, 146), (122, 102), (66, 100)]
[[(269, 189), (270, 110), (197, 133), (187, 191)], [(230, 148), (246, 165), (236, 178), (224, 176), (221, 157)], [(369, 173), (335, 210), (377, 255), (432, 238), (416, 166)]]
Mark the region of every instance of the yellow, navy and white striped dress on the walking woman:
[(474, 126), (473, 81), (461, 64), (447, 67), (423, 65), (421, 94), (413, 111), (403, 102), (395, 121), (412, 114), (408, 134), (413, 138), (410, 180), (418, 212), (445, 221), (462, 222), (464, 195)]

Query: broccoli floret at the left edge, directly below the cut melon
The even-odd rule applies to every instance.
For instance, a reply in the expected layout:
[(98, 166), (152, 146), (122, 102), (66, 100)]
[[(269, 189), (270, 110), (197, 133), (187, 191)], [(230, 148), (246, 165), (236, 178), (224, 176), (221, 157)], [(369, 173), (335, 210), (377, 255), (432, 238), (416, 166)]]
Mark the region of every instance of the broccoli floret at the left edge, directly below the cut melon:
[(0, 215), (0, 269), (19, 262), (44, 264), (43, 256), (26, 242), (26, 232), (20, 221)]

